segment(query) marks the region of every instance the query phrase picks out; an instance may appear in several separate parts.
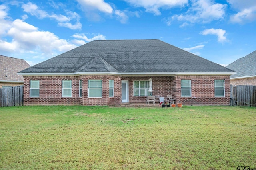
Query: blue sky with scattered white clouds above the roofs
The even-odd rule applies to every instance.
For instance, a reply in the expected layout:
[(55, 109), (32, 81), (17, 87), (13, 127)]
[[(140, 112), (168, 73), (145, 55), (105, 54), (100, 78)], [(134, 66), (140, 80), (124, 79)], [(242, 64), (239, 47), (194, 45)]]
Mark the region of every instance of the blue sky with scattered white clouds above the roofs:
[(256, 50), (256, 0), (0, 0), (0, 55), (32, 66), (99, 39), (160, 39), (226, 66)]

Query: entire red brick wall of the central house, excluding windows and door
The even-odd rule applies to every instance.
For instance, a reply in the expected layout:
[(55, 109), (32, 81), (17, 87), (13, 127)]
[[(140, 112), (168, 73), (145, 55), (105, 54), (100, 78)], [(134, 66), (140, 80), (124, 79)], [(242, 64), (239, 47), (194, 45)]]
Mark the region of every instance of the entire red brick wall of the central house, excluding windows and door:
[[(81, 76), (24, 76), (24, 105), (31, 104), (81, 104), (119, 105), (121, 104), (122, 80), (129, 81), (129, 102), (146, 102), (146, 97), (133, 96), (133, 81), (152, 78), (153, 95), (172, 95), (183, 104), (221, 104), (230, 102), (230, 76), (176, 76), (176, 77), (121, 77), (111, 75)], [(88, 98), (88, 80), (102, 80), (102, 98)], [(191, 80), (192, 97), (181, 98), (181, 80)], [(214, 97), (214, 80), (225, 80), (225, 97)], [(30, 80), (40, 80), (40, 97), (29, 97)], [(62, 97), (62, 80), (72, 80), (72, 97)], [(79, 80), (82, 80), (82, 98), (79, 97)], [(108, 97), (109, 80), (114, 80), (114, 97)], [(195, 97), (195, 98), (194, 98)]]

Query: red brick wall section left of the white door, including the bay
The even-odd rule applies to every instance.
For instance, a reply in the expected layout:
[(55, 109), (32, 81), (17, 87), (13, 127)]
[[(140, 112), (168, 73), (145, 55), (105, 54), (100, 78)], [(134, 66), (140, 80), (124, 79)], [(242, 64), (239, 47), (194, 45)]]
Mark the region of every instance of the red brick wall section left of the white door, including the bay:
[[(102, 80), (102, 98), (88, 98), (88, 80)], [(39, 98), (30, 98), (30, 80), (40, 80)], [(62, 97), (62, 80), (72, 80), (72, 97)], [(82, 98), (79, 97), (79, 80), (82, 80)], [(108, 97), (109, 80), (114, 80), (114, 97)], [(82, 104), (118, 105), (121, 104), (120, 76), (24, 76), (24, 105), (35, 104)]]

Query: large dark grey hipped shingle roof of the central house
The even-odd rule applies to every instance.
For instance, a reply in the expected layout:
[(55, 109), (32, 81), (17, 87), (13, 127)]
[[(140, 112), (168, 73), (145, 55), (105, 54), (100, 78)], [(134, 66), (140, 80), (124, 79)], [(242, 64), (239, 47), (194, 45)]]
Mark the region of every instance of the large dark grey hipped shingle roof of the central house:
[(95, 40), (21, 71), (34, 74), (235, 74), (160, 40)]

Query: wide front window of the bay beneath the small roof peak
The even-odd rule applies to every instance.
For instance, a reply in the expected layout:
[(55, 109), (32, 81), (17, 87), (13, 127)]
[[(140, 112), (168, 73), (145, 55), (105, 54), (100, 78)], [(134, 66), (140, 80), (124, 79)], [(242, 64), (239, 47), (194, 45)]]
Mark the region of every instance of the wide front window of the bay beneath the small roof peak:
[(102, 80), (88, 80), (88, 97), (102, 97)]

